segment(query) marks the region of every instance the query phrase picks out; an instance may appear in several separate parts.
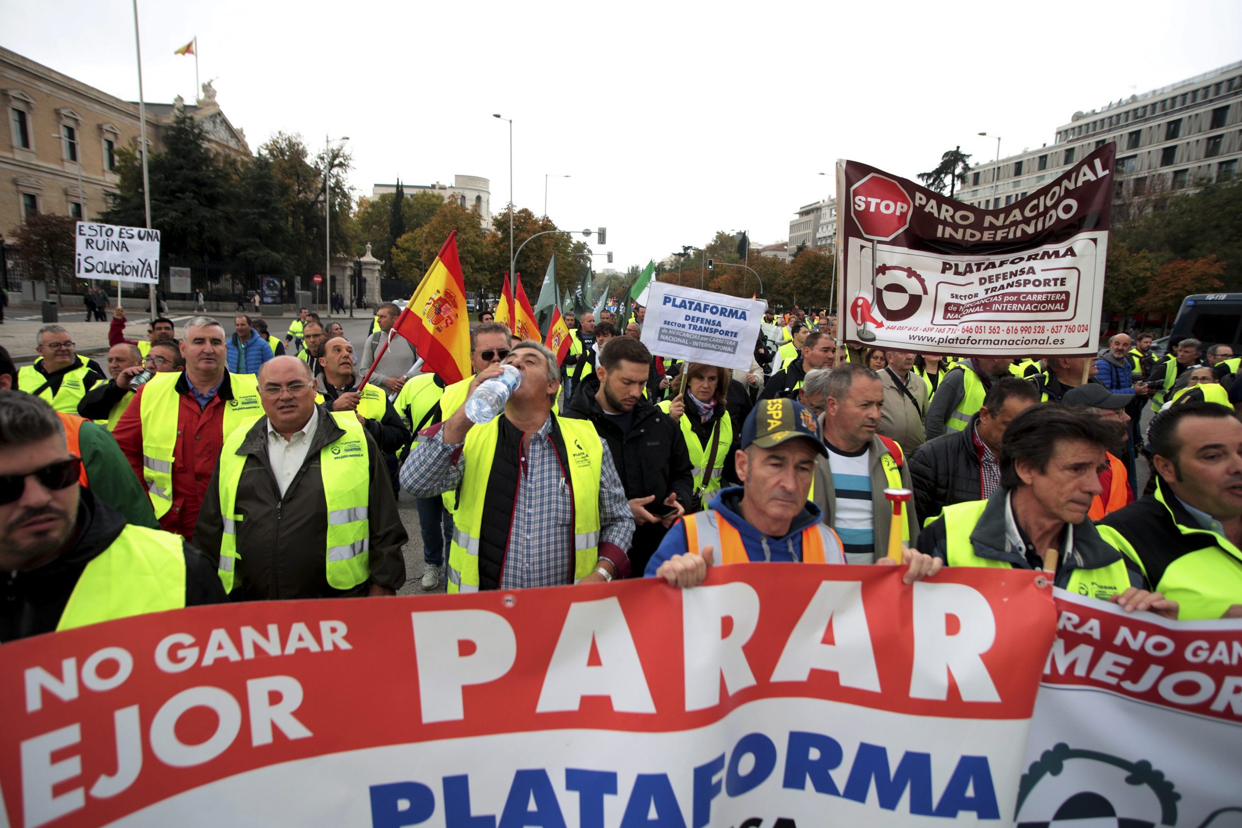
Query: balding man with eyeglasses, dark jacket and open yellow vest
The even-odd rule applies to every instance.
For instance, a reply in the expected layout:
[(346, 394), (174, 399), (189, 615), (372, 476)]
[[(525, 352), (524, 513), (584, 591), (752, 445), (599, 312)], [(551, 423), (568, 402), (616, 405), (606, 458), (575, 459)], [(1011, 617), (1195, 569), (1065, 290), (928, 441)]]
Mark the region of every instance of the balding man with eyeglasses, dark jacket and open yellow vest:
[(195, 545), (233, 601), (395, 595), (407, 538), (363, 417), (317, 406), (293, 356), (265, 362), (258, 387), (263, 416), (225, 441)]

